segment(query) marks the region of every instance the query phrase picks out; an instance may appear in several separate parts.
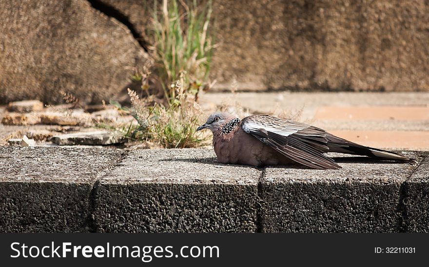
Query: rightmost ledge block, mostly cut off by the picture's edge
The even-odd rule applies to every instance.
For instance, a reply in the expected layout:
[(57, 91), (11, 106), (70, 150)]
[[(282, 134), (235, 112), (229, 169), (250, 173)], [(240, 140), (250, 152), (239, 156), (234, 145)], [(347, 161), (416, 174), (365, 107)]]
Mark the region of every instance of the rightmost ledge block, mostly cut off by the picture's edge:
[(405, 183), (405, 230), (429, 232), (429, 155)]

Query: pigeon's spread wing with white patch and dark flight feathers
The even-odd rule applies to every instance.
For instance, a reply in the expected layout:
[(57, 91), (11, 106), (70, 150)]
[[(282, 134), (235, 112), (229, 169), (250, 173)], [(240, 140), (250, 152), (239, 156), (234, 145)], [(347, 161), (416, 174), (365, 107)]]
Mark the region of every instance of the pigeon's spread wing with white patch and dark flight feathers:
[(300, 164), (316, 169), (341, 168), (323, 154), (323, 151), (329, 150), (325, 130), (268, 115), (248, 116), (242, 120), (241, 127), (246, 133)]

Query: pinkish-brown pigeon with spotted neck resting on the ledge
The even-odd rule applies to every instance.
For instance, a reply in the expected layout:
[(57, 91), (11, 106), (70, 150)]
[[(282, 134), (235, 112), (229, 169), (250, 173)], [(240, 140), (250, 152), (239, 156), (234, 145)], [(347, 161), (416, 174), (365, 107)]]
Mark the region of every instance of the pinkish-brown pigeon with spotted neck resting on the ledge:
[(314, 169), (338, 169), (327, 152), (368, 156), (377, 160), (414, 164), (396, 152), (368, 147), (334, 136), (305, 123), (269, 115), (251, 115), (242, 120), (215, 112), (196, 130), (210, 129), (219, 163), (252, 166), (299, 163)]

